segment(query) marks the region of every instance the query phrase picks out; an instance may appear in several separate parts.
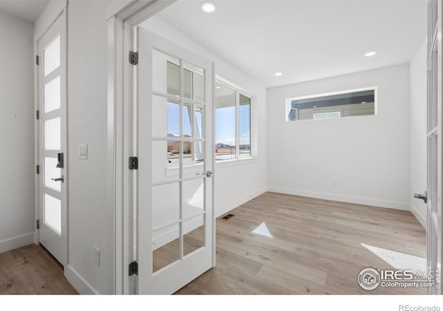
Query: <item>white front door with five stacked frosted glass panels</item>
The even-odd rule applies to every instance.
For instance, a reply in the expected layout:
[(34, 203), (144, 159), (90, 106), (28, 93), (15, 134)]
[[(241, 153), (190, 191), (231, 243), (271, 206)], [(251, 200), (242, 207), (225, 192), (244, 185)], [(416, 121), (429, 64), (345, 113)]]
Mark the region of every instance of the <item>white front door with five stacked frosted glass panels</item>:
[(39, 243), (66, 264), (66, 107), (62, 18), (37, 41)]

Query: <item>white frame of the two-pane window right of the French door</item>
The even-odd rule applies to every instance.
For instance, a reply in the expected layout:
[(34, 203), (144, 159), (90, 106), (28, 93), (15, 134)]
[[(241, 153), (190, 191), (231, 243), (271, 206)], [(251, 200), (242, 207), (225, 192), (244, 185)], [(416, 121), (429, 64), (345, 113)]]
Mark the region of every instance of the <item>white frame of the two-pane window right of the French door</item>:
[[(233, 159), (226, 159), (226, 160), (217, 160), (215, 159), (215, 163), (226, 163), (226, 162), (233, 162), (233, 161), (242, 161), (242, 160), (251, 160), (253, 158), (257, 158), (257, 151), (255, 149), (255, 146), (253, 146), (253, 122), (254, 122), (254, 113), (253, 113), (253, 107), (255, 106), (255, 97), (251, 95), (248, 91), (245, 91), (244, 88), (241, 88), (232, 82), (229, 82), (227, 79), (224, 79), (222, 77), (216, 76), (215, 77), (215, 84), (220, 84), (221, 86), (224, 86), (226, 88), (230, 88), (231, 90), (235, 91), (235, 158)], [(215, 90), (214, 90), (215, 93)], [(248, 97), (251, 100), (251, 107), (249, 109), (249, 152), (250, 155), (246, 157), (240, 158), (240, 94)], [(217, 105), (215, 104), (215, 113), (217, 113)], [(214, 120), (215, 123), (215, 120)], [(214, 130), (214, 136), (217, 136), (216, 129)], [(214, 148), (215, 144), (217, 144), (217, 140), (214, 140)]]

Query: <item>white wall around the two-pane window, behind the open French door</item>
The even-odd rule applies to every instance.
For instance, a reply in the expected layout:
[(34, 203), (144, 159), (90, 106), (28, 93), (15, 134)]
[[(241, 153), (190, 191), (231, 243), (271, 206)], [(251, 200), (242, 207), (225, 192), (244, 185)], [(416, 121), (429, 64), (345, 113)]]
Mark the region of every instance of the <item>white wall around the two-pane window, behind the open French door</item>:
[(267, 187), (266, 88), (158, 17), (148, 19), (143, 23), (143, 27), (213, 60), (216, 75), (254, 95), (253, 119), (255, 122), (251, 125), (253, 127), (252, 144), (257, 148), (258, 158), (256, 160), (216, 163), (214, 176), (215, 214), (216, 216), (224, 214), (262, 194)]

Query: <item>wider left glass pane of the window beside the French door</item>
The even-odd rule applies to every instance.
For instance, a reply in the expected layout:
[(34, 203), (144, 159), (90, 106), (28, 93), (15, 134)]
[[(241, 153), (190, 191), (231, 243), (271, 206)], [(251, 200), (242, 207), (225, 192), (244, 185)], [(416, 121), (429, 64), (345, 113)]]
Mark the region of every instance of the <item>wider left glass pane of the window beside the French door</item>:
[(235, 91), (215, 84), (215, 160), (235, 158)]

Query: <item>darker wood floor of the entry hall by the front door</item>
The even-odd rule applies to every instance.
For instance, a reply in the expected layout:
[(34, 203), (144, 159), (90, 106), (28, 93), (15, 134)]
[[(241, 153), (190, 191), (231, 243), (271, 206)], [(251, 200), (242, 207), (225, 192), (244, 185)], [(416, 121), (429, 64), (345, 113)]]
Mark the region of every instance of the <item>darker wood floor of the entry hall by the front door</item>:
[(0, 294), (78, 294), (63, 271), (31, 244), (0, 254)]

